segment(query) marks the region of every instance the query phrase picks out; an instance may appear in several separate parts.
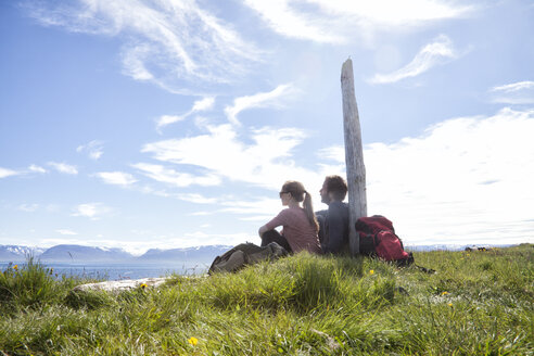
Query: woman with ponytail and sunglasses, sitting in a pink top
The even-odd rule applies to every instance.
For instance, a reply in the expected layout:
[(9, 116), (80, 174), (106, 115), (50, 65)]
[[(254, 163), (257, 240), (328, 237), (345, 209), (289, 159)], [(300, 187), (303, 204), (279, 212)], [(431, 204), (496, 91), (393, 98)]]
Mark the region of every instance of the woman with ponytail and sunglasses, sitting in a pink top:
[[(287, 181), (280, 190), (280, 199), (283, 206), (281, 211), (269, 223), (262, 226), (258, 234), (262, 238), (262, 246), (270, 242), (277, 242), (290, 253), (308, 251), (320, 253), (319, 224), (314, 213), (312, 195), (304, 189), (304, 186), (294, 180)], [(303, 203), (304, 207), (301, 207)], [(280, 232), (276, 227), (282, 226)]]

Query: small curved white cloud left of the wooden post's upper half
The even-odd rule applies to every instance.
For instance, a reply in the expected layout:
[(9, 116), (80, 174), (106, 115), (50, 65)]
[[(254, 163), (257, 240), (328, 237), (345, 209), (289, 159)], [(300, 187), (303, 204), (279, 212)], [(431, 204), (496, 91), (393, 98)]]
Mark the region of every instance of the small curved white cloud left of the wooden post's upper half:
[(230, 123), (240, 125), (238, 114), (253, 107), (280, 107), (281, 102), (296, 90), (291, 84), (278, 86), (268, 92), (258, 92), (254, 96), (240, 97), (233, 100), (232, 106), (226, 106), (225, 113)]

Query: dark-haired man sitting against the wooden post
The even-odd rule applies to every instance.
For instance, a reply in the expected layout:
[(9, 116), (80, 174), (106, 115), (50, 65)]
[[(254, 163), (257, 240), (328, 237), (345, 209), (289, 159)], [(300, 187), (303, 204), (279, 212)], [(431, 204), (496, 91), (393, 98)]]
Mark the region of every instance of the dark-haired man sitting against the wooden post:
[(348, 252), (348, 205), (343, 203), (348, 191), (345, 179), (327, 176), (319, 193), (328, 209), (316, 212), (322, 253)]

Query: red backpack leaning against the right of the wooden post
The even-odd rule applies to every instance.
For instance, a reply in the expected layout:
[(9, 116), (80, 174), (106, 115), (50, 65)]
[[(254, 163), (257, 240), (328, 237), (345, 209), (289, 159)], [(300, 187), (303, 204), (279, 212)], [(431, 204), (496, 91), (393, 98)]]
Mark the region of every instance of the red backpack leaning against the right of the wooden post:
[(393, 224), (387, 218), (381, 215), (360, 217), (356, 221), (356, 232), (359, 233), (361, 254), (402, 266), (414, 263), (412, 254), (404, 251), (403, 241), (395, 234)]

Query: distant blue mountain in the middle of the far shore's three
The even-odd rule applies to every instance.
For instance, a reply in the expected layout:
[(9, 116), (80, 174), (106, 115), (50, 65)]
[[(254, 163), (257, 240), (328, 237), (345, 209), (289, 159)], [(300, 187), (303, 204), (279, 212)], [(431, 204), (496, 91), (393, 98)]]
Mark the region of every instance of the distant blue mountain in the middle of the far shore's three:
[(134, 256), (122, 249), (90, 247), (61, 244), (44, 251), (39, 259), (42, 262), (126, 262)]

